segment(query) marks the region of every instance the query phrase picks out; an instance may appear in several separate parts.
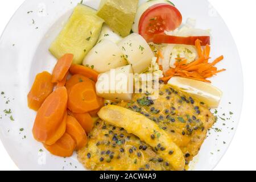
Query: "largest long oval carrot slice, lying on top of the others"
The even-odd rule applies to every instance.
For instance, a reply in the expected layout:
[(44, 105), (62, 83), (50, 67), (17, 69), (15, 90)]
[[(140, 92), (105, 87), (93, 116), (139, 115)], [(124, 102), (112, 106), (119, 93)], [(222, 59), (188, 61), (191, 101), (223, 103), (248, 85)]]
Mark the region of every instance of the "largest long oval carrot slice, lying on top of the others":
[[(68, 94), (64, 86), (57, 88), (46, 98), (38, 110), (32, 129), (36, 140), (45, 143), (55, 136), (61, 122), (63, 122), (64, 114), (67, 111), (67, 101)], [(56, 141), (52, 141), (52, 143), (55, 142)]]

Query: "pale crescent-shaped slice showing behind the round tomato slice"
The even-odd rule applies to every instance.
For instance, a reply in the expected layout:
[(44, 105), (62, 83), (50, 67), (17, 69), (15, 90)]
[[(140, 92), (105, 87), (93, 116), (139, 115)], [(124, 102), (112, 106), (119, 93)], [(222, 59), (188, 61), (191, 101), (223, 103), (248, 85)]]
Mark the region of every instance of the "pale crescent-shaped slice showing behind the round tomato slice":
[(151, 6), (154, 6), (156, 4), (160, 4), (160, 3), (166, 3), (168, 5), (172, 5), (174, 6), (174, 4), (171, 1), (168, 0), (150, 0), (147, 2), (142, 3), (138, 9), (137, 9), (137, 13), (135, 15), (135, 20), (134, 20), (134, 24), (133, 24), (133, 32), (134, 33), (139, 33), (139, 20), (141, 19), (142, 14)]

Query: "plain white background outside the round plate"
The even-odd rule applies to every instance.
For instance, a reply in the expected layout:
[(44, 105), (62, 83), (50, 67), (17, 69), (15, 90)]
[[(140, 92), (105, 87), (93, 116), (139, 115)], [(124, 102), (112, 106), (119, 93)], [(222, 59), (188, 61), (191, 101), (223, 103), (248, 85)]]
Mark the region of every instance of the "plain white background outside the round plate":
[[(240, 125), (232, 144), (215, 170), (256, 170), (256, 158), (254, 156), (256, 152), (256, 54), (254, 54), (256, 53), (256, 1), (209, 1), (224, 18), (234, 36), (241, 56), (245, 83)], [(22, 2), (23, 0), (1, 1), (0, 33)], [(18, 170), (1, 142), (0, 170)]]

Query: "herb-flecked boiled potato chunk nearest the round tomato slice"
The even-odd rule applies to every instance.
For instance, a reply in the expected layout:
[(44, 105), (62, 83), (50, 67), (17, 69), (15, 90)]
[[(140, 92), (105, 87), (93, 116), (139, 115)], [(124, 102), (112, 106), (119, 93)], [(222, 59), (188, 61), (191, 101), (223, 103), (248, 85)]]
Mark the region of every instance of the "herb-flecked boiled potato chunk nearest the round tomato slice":
[(139, 34), (131, 34), (118, 43), (126, 60), (132, 65), (134, 73), (142, 73), (149, 67), (153, 52), (146, 40)]

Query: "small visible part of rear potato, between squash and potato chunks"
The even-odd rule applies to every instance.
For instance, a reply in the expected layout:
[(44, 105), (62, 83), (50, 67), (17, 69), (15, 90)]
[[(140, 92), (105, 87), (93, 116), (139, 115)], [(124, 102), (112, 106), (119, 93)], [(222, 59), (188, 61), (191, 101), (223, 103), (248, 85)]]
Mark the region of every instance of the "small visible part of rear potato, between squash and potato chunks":
[(122, 39), (123, 38), (120, 35), (115, 34), (115, 32), (107, 24), (104, 24), (101, 30), (100, 38), (98, 38), (98, 43), (100, 43), (102, 40), (110, 40), (117, 44)]

